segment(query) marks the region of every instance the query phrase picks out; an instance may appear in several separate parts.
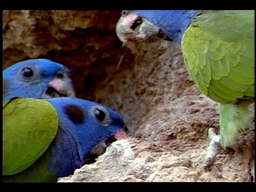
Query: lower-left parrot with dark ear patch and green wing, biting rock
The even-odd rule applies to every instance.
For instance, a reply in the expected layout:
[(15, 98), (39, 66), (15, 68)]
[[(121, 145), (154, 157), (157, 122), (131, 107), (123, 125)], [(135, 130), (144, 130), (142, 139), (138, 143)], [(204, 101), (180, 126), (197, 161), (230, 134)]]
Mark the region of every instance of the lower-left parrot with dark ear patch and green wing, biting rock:
[(125, 124), (110, 108), (78, 98), (14, 97), (3, 102), (3, 181), (56, 182)]

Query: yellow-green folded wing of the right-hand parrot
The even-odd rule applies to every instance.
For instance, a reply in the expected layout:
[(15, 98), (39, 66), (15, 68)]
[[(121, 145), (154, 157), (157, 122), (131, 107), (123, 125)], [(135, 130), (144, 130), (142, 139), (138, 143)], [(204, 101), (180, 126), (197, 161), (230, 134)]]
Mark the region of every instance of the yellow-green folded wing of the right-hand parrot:
[(203, 11), (182, 38), (189, 74), (212, 100), (254, 97), (254, 10)]

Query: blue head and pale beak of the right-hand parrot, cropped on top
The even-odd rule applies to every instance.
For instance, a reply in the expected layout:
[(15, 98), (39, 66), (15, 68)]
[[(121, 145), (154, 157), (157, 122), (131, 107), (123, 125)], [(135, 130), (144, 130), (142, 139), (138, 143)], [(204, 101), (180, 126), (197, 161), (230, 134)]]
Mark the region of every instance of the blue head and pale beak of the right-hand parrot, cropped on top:
[[(143, 41), (147, 42), (147, 39), (152, 40), (152, 37), (148, 35), (150, 30), (152, 30), (152, 36), (156, 33), (155, 28), (151, 26), (151, 23), (153, 23), (159, 28), (157, 33), (159, 38), (169, 39), (169, 41), (181, 44), (183, 34), (196, 13), (197, 10), (125, 10), (117, 22), (116, 33), (122, 42), (131, 38), (134, 33), (134, 36), (140, 36), (140, 38), (143, 36), (145, 38)], [(147, 24), (149, 27), (147, 25), (143, 26), (143, 23), (148, 21), (151, 22)], [(142, 28), (141, 26), (145, 29), (138, 29)], [(132, 30), (139, 31), (139, 33), (145, 33), (147, 30), (147, 35), (140, 35), (138, 32), (132, 33)]]

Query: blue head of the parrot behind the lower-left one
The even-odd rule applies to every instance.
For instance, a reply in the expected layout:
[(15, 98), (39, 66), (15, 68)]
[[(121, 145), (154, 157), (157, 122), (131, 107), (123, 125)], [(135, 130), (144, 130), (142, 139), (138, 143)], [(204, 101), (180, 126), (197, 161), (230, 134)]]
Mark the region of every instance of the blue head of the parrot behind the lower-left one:
[(12, 97), (75, 97), (70, 71), (49, 59), (30, 59), (3, 71), (3, 100)]

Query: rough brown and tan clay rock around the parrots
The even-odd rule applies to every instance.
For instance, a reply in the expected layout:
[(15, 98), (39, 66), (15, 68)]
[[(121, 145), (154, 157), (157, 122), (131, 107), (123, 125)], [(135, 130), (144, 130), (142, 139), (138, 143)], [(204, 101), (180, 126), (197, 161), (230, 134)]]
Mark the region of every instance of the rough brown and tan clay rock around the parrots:
[(63, 63), (77, 97), (115, 109), (131, 132), (59, 182), (254, 181), (254, 124), (239, 137), (242, 150), (219, 148), (211, 171), (204, 170), (219, 104), (193, 84), (179, 47), (140, 44), (140, 57), (122, 48), (115, 34), (120, 13), (3, 12), (4, 68), (30, 58)]

